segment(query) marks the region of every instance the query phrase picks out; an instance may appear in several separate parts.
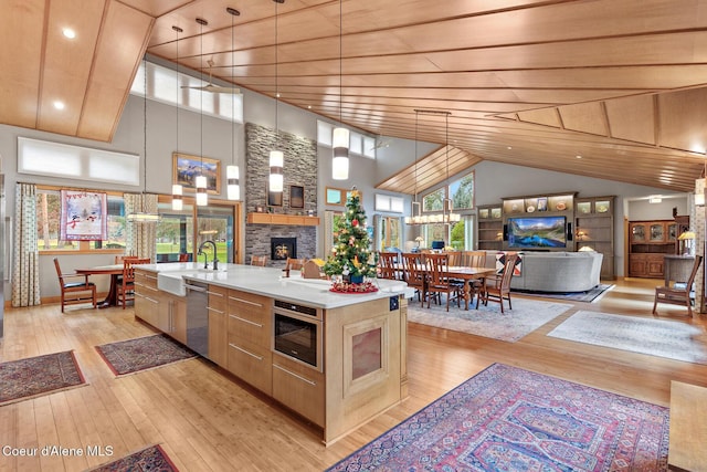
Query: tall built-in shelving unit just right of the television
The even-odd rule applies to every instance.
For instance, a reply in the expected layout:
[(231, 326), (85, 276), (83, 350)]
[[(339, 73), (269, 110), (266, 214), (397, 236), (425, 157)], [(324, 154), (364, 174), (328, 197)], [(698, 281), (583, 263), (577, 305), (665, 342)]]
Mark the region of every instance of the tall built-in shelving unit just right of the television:
[(601, 277), (613, 280), (614, 273), (614, 196), (574, 200), (574, 242), (577, 251), (593, 249), (604, 256)]

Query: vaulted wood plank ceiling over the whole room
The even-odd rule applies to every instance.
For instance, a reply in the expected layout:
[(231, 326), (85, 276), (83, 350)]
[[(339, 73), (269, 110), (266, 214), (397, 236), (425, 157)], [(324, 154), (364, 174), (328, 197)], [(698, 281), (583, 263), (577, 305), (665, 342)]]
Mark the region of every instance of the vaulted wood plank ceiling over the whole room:
[[(437, 170), (447, 156), (452, 174), (493, 160), (675, 191), (690, 191), (705, 166), (704, 0), (3, 0), (0, 8), (3, 124), (110, 140), (144, 53), (178, 59), (178, 25), (180, 64), (204, 77), (233, 74), (241, 88), (270, 96), (277, 83), (279, 99), (331, 120), (439, 143), (418, 162), (419, 179), (436, 177), (419, 180), (419, 191), (445, 177)], [(75, 40), (62, 36), (65, 25)], [(415, 109), (449, 112), (449, 122)], [(379, 188), (413, 192), (412, 160)]]

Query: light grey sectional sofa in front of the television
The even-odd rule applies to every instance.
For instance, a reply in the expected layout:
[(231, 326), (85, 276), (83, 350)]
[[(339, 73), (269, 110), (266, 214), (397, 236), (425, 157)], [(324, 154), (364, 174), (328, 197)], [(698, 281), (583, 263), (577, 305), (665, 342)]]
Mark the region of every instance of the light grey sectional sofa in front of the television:
[[(496, 265), (497, 251), (487, 251), (486, 265)], [(510, 287), (534, 292), (584, 292), (600, 283), (599, 252), (520, 252), (520, 275)]]

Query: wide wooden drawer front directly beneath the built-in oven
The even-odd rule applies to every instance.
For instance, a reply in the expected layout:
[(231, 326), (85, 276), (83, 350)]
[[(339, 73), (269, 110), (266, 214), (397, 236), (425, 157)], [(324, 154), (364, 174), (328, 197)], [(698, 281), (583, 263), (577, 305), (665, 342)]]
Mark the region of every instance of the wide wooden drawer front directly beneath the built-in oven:
[(324, 374), (273, 354), (272, 397), (315, 424), (325, 426)]

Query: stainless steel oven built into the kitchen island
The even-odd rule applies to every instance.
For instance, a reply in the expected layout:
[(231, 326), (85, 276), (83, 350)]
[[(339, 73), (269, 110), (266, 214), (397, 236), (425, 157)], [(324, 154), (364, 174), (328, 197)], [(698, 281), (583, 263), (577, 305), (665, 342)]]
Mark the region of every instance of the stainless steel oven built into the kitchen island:
[(323, 371), (320, 308), (275, 300), (273, 350)]

